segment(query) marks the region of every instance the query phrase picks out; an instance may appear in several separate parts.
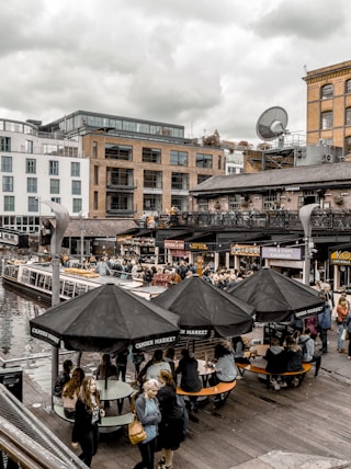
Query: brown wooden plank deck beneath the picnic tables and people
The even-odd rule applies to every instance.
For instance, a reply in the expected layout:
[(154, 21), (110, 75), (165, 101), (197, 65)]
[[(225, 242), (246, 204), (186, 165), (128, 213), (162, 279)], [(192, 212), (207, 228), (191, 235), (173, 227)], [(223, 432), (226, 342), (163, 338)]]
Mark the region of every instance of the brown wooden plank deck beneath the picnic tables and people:
[[(24, 403), (69, 445), (71, 424), (48, 413), (48, 396), (25, 377)], [(42, 405), (34, 408), (33, 402)], [(254, 458), (273, 450), (351, 461), (350, 380), (338, 379), (325, 369), (318, 378), (308, 374), (298, 388), (280, 391), (267, 389), (257, 375), (246, 374), (217, 413), (203, 408), (196, 416), (200, 422), (190, 422), (189, 437), (174, 454), (178, 469), (229, 469), (240, 465), (254, 469), (260, 467)], [(103, 435), (92, 469), (132, 468), (138, 460), (138, 448), (128, 443), (124, 428)], [(351, 462), (342, 467), (351, 467)]]

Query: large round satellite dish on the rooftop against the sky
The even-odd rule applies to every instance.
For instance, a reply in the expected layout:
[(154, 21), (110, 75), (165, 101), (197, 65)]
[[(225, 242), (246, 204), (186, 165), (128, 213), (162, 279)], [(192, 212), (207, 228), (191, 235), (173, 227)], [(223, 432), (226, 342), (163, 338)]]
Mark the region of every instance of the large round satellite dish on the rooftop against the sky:
[(274, 140), (286, 134), (287, 113), (283, 107), (265, 110), (256, 124), (256, 133), (262, 140)]

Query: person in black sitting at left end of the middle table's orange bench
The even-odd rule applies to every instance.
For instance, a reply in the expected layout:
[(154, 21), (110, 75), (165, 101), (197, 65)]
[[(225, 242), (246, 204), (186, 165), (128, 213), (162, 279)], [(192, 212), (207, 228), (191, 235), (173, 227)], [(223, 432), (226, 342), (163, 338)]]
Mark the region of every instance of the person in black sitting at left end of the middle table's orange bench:
[[(180, 387), (186, 392), (197, 392), (202, 388), (202, 382), (197, 373), (197, 361), (190, 356), (189, 350), (181, 351), (181, 359), (179, 361), (176, 375), (181, 375)], [(191, 414), (192, 411), (196, 412), (196, 397), (190, 397), (190, 414), (189, 417), (196, 422), (197, 417)]]

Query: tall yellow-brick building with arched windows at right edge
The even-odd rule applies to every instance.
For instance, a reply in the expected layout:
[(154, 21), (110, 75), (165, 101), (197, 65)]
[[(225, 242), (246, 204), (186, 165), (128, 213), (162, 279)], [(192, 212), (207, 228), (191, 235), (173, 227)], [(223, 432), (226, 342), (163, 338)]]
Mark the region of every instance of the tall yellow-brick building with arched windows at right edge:
[(343, 148), (351, 157), (351, 60), (307, 71), (307, 144)]

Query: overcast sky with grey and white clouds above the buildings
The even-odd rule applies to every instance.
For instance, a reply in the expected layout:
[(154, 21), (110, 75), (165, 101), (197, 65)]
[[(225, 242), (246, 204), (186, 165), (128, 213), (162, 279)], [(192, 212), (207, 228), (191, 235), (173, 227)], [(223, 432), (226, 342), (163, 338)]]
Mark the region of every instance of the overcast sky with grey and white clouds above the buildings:
[(1, 0), (0, 117), (77, 110), (257, 144), (283, 106), (305, 134), (307, 70), (351, 60), (349, 0)]

